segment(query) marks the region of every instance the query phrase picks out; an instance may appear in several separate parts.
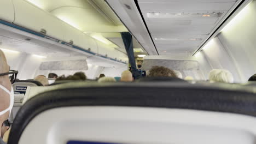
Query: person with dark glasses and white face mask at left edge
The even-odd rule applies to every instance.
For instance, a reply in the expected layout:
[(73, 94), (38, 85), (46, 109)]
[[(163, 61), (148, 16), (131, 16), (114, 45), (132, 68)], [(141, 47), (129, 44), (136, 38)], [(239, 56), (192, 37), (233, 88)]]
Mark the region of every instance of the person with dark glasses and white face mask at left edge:
[[(4, 56), (4, 53), (0, 50), (0, 125), (1, 129), (4, 127), (3, 123), (6, 121), (13, 109), (14, 104), (14, 92), (11, 83), (15, 82), (18, 71), (9, 70), (9, 65)], [(9, 77), (9, 75), (11, 75)], [(2, 132), (2, 131), (1, 131)], [(0, 144), (3, 144), (2, 133), (0, 133)]]

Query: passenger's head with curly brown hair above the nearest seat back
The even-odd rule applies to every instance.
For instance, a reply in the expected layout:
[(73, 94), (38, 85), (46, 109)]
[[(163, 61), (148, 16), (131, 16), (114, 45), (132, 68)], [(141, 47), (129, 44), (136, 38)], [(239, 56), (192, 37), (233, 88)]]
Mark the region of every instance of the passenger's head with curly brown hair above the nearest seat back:
[(174, 77), (178, 78), (175, 72), (171, 69), (162, 66), (154, 66), (149, 70), (149, 77)]

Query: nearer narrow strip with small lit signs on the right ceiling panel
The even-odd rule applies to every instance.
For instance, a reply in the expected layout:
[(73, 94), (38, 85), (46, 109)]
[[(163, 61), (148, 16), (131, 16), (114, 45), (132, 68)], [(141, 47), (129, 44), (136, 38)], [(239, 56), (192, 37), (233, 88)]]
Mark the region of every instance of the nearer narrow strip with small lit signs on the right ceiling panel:
[(185, 17), (221, 17), (223, 12), (219, 13), (164, 13), (164, 12), (151, 12), (147, 13), (148, 18), (185, 18)]

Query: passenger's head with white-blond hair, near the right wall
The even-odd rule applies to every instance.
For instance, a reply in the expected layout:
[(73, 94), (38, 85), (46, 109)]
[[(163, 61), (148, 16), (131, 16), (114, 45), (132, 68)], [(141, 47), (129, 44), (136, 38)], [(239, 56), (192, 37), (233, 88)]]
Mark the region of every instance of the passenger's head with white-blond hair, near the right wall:
[(213, 69), (210, 71), (209, 80), (215, 82), (226, 82), (232, 83), (234, 82), (233, 75), (224, 69)]

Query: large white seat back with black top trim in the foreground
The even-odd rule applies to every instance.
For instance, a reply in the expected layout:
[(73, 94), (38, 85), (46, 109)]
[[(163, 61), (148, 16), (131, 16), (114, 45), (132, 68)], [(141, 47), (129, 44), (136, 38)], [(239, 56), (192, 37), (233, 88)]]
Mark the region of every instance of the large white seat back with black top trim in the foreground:
[(65, 83), (21, 107), (8, 144), (254, 143), (255, 116), (252, 87)]

